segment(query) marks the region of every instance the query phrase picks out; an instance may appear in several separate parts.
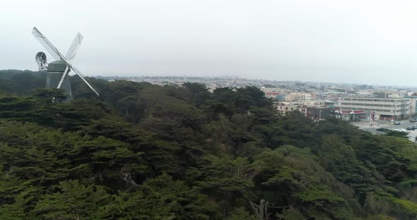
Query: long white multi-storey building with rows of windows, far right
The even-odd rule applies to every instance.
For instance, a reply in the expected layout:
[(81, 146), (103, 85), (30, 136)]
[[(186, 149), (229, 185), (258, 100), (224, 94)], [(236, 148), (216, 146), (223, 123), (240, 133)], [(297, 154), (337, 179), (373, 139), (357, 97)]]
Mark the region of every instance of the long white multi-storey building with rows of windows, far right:
[(409, 118), (409, 98), (341, 97), (340, 111), (373, 111), (381, 120)]

